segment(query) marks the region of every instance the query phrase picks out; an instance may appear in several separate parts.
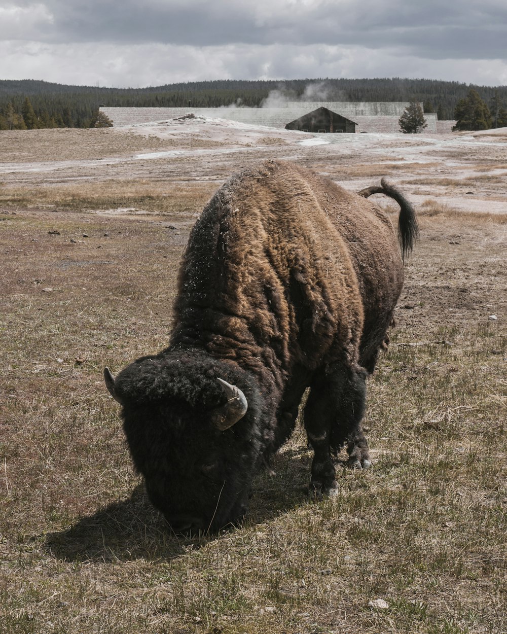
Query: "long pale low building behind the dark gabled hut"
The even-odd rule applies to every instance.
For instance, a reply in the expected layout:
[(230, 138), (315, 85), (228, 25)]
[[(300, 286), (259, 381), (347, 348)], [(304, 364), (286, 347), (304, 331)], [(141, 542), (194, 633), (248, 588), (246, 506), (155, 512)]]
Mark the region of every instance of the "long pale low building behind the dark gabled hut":
[[(229, 119), (244, 124), (285, 128), (305, 115), (319, 108), (326, 108), (355, 123), (356, 133), (399, 133), (398, 120), (409, 105), (408, 101), (349, 102), (349, 101), (285, 101), (276, 108), (108, 108), (101, 107), (114, 126), (132, 126), (152, 121), (177, 119), (188, 113), (207, 119)], [(436, 113), (425, 114), (427, 127), (425, 133), (437, 134), (451, 132), (452, 121), (438, 121)], [(294, 129), (292, 127), (292, 129)], [(345, 130), (343, 130), (345, 131)], [(347, 129), (347, 132), (349, 129)]]

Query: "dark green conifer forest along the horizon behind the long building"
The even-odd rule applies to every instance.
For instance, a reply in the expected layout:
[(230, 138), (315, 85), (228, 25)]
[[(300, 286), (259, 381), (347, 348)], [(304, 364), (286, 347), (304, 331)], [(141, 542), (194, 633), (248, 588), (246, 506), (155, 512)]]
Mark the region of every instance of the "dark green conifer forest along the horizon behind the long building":
[[(66, 86), (34, 80), (4, 80), (0, 81), (0, 129), (100, 126), (107, 124), (99, 117), (101, 105), (212, 108), (236, 104), (260, 107), (273, 90), (289, 101), (418, 101), (424, 104), (425, 112), (436, 112), (439, 120), (456, 119), (457, 126), (461, 120), (464, 126), (507, 125), (504, 114), (507, 86), (475, 86), (432, 79), (223, 80), (147, 88)], [(474, 94), (471, 96), (472, 91)], [(473, 112), (482, 110), (482, 117), (477, 112), (470, 115), (471, 109)]]

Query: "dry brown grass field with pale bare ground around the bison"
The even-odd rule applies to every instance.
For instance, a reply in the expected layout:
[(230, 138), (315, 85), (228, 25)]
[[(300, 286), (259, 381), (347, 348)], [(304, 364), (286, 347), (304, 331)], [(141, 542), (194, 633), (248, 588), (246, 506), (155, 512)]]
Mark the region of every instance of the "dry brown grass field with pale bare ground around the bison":
[[(0, 631), (507, 632), (507, 139), (185, 125), (0, 133)], [(375, 464), (310, 501), (298, 429), (242, 526), (177, 538), (102, 370), (166, 345), (191, 224), (265, 157), (416, 202)]]

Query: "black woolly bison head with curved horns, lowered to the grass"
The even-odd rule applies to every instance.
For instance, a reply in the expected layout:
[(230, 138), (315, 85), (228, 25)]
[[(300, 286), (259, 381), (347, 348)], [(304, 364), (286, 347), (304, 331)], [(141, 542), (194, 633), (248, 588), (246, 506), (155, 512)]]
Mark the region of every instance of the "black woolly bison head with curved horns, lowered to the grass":
[(117, 378), (106, 369), (105, 380), (151, 503), (176, 533), (217, 530), (245, 514), (262, 460), (252, 377), (198, 354), (162, 353)]

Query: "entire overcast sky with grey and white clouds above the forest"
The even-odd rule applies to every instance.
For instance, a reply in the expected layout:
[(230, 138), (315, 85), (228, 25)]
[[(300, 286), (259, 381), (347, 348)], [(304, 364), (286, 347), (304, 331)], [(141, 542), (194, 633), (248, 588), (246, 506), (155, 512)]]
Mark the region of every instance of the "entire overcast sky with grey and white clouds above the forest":
[(0, 79), (507, 84), (506, 0), (0, 0)]

